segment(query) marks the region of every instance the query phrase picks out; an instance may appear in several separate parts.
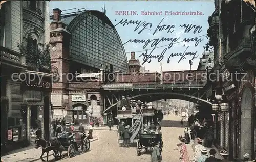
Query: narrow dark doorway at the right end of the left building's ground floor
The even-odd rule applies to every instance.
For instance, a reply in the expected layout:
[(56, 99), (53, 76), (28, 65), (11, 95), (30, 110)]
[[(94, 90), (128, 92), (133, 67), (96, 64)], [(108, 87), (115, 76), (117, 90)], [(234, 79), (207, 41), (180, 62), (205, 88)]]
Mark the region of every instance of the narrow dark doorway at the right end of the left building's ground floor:
[(50, 140), (50, 100), (49, 97), (44, 97), (44, 132), (45, 139)]

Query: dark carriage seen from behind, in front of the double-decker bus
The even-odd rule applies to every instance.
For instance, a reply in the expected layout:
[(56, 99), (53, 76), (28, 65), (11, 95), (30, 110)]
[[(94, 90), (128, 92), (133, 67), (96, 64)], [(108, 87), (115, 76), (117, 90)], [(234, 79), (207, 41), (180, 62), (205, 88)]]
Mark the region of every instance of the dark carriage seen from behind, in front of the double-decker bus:
[(137, 155), (140, 156), (142, 153), (142, 149), (145, 151), (148, 148), (152, 149), (152, 147), (159, 145), (160, 154), (162, 153), (162, 134), (161, 133), (152, 133), (152, 132), (143, 132), (139, 133), (139, 141), (137, 142)]

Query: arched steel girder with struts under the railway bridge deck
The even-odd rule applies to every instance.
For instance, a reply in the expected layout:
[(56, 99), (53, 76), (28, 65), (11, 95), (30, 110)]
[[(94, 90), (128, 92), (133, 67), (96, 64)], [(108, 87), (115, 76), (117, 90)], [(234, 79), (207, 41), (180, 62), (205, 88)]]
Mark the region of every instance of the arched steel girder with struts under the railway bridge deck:
[[(127, 94), (127, 93), (125, 93)], [(155, 92), (155, 93), (144, 93), (144, 94), (129, 94), (130, 99), (134, 100), (141, 100), (146, 102), (152, 102), (160, 99), (181, 99), (186, 100), (190, 102), (197, 103), (198, 101), (201, 101), (204, 104), (212, 105), (211, 102), (202, 99), (200, 97), (200, 92), (194, 92), (193, 94), (185, 94), (185, 93), (176, 93), (176, 92)], [(114, 97), (114, 100), (113, 100)], [(121, 99), (122, 94), (118, 94), (118, 97), (115, 96), (115, 94), (111, 94), (111, 99), (108, 97), (108, 95), (105, 95), (105, 98), (109, 101), (110, 107), (104, 110), (104, 112), (110, 110), (112, 107), (117, 105), (117, 102)], [(105, 106), (106, 106), (106, 100), (105, 100)], [(106, 108), (106, 107), (105, 107)]]

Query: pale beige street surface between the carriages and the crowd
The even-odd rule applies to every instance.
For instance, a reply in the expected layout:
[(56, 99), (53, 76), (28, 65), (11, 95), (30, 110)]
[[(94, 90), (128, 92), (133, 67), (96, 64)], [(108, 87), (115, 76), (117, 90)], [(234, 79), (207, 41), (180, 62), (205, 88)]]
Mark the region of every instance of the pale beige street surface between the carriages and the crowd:
[[(180, 127), (181, 117), (174, 115), (165, 116), (162, 121), (163, 134), (163, 152), (162, 161), (177, 162), (179, 159), (179, 152), (176, 144), (179, 135), (184, 134), (184, 128)], [(116, 130), (116, 129), (115, 129)], [(137, 156), (136, 148), (119, 147), (117, 142), (117, 132), (112, 130), (96, 130), (99, 140), (92, 143), (90, 151), (76, 155), (73, 158), (65, 157), (61, 161), (150, 161), (150, 154), (142, 154)], [(192, 144), (188, 144), (187, 148), (189, 156), (193, 156)], [(50, 157), (53, 159), (53, 156)], [(40, 160), (38, 160), (39, 162)]]

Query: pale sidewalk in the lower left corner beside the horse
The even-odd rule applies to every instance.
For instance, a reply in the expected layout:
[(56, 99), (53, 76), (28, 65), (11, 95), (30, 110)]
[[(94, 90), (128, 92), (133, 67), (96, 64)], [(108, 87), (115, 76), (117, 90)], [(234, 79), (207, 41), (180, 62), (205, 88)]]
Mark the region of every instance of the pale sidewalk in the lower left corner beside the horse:
[[(90, 139), (90, 142), (98, 140), (97, 133), (93, 135), (93, 139)], [(41, 147), (35, 149), (35, 144), (32, 144), (28, 147), (13, 150), (8, 153), (8, 155), (2, 156), (1, 159), (5, 162), (27, 162), (27, 161), (37, 161), (40, 159), (42, 150)], [(49, 152), (49, 157), (52, 155), (52, 151)], [(44, 154), (43, 158), (46, 157), (46, 153)]]

